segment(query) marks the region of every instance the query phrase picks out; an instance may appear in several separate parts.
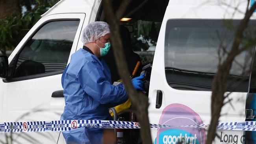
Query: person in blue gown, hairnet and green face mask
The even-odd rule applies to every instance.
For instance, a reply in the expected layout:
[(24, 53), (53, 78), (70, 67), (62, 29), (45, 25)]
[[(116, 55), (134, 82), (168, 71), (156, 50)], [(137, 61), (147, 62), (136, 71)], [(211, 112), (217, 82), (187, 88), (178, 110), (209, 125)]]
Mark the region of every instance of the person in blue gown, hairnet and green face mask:
[[(128, 99), (124, 85), (111, 84), (108, 66), (100, 58), (110, 48), (110, 30), (106, 22), (92, 22), (83, 30), (83, 48), (72, 54), (63, 72), (65, 108), (61, 120), (112, 120), (108, 109)], [(144, 76), (132, 80), (137, 90), (143, 90)], [(63, 131), (68, 144), (100, 144), (103, 129), (76, 128)]]

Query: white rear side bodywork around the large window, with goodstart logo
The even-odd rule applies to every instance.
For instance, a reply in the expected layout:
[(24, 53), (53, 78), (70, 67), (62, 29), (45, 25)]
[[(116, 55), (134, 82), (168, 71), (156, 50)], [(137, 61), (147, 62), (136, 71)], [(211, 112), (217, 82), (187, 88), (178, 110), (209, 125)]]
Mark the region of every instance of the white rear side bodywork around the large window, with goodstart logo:
[[(220, 1), (202, 0), (170, 0), (161, 25), (160, 34), (154, 55), (152, 73), (150, 78), (148, 115), (152, 124), (167, 125), (190, 125), (190, 124), (210, 124), (211, 120), (211, 92), (195, 90), (173, 89), (167, 83), (165, 77), (165, 30), (167, 21), (170, 19), (242, 19), (244, 17), (247, 0), (245, 1), (225, 1), (231, 6), (239, 6), (235, 12), (234, 7), (220, 4)], [(223, 1), (221, 1), (223, 2)], [(237, 5), (239, 4), (239, 5)], [(255, 19), (255, 14), (251, 19)], [(157, 90), (163, 92), (162, 105), (156, 109)], [(230, 94), (232, 104), (223, 106), (220, 122), (243, 122), (245, 121), (246, 92), (233, 92)], [(186, 114), (187, 113), (187, 114)], [(151, 129), (152, 141), (156, 144), (165, 143), (163, 135), (180, 135), (185, 133), (197, 134), (199, 143), (205, 143), (206, 131), (204, 129), (187, 130), (179, 127), (172, 131), (170, 128)], [(243, 137), (243, 131), (222, 131), (229, 135)], [(221, 131), (218, 131), (221, 135)], [(200, 135), (200, 137), (199, 137)], [(161, 139), (163, 138), (163, 139)], [(223, 137), (222, 137), (223, 138)], [(168, 143), (168, 142), (167, 142)], [(193, 141), (194, 143), (194, 141)], [(223, 143), (216, 138), (215, 143)], [(238, 144), (240, 144), (240, 139)]]

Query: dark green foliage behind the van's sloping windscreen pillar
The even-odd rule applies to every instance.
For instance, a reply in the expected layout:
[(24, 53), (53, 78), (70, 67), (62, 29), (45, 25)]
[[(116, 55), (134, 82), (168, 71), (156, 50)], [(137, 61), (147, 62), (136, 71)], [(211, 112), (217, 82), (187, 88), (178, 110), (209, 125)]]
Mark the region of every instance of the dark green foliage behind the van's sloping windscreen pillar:
[(0, 0), (0, 51), (13, 50), (32, 26), (59, 0)]

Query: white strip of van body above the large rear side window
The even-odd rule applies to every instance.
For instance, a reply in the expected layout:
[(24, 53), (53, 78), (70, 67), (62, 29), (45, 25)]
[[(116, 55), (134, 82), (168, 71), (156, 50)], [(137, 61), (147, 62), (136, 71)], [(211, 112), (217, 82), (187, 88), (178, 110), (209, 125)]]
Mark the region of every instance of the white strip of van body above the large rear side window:
[[(164, 20), (166, 18), (241, 19), (244, 17), (247, 2), (247, 0), (170, 0)], [(252, 15), (251, 18), (256, 18), (256, 15)]]

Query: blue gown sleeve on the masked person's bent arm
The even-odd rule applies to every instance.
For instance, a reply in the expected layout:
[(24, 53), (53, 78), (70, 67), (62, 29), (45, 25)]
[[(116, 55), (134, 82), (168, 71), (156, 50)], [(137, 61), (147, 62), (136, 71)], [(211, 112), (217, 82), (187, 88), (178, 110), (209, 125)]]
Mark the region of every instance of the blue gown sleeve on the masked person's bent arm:
[(99, 103), (122, 103), (128, 99), (123, 85), (112, 85), (103, 73), (103, 67), (95, 61), (85, 63), (78, 73), (82, 89)]

